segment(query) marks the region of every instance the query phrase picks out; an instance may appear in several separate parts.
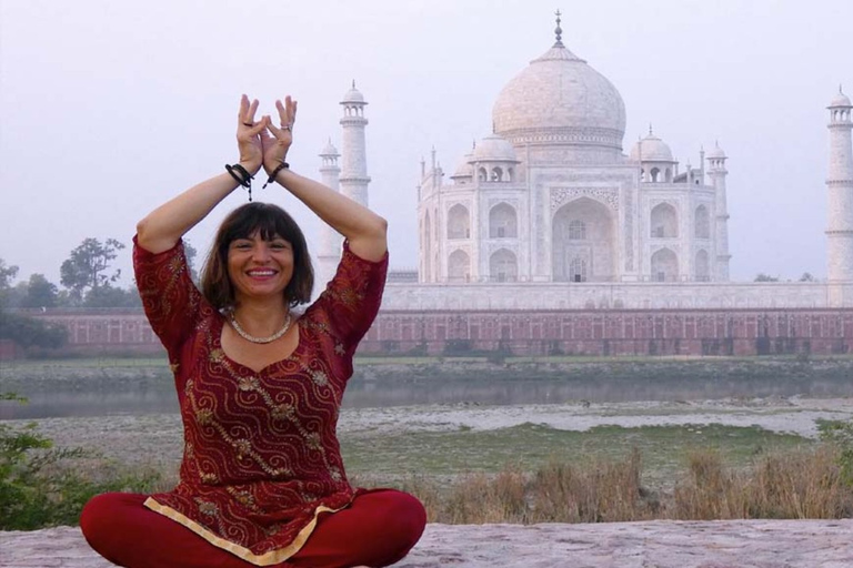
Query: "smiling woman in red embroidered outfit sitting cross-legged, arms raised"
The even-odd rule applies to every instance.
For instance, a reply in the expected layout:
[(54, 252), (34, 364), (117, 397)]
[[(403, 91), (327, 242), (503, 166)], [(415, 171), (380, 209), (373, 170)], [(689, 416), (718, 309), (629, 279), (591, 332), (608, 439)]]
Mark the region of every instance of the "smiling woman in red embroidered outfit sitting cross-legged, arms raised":
[[(184, 425), (174, 490), (106, 494), (80, 526), (130, 568), (388, 566), (425, 525), (395, 490), (353, 489), (335, 436), (355, 346), (379, 310), (385, 221), (290, 171), (297, 103), (281, 128), (240, 102), (240, 162), (161, 205), (137, 226), (133, 264), (151, 326), (169, 353)], [(313, 275), (304, 237), (279, 207), (250, 203), (222, 223), (190, 280), (181, 237), (263, 166), (344, 241), (338, 274), (299, 317)]]

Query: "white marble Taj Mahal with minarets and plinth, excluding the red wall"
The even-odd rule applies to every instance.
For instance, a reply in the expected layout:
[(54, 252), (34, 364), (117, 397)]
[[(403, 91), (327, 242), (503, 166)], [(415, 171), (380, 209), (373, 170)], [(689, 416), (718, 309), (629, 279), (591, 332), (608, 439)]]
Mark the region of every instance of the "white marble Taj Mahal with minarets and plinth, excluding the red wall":
[[(384, 307), (853, 305), (846, 95), (840, 91), (829, 104), (827, 282), (735, 284), (723, 149), (682, 165), (650, 128), (625, 152), (622, 97), (563, 44), (559, 12), (554, 31), (553, 45), (499, 93), (493, 132), (450, 175), (434, 150), (431, 163), (421, 162), (417, 278), (392, 274)], [(328, 185), (367, 204), (367, 102), (354, 83), (341, 105), (342, 153), (330, 142), (320, 172)], [(340, 237), (327, 231), (318, 282), (331, 277), (339, 255)]]

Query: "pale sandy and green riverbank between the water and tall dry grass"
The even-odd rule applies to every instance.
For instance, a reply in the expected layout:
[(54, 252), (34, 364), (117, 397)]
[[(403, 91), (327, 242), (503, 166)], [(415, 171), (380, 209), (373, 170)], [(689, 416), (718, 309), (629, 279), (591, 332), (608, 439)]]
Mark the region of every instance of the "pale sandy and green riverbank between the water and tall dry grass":
[[(339, 437), (348, 473), (365, 485), (418, 476), (496, 474), (518, 464), (580, 463), (643, 455), (644, 481), (679, 478), (689, 453), (714, 449), (745, 467), (763, 453), (816, 443), (821, 420), (853, 419), (853, 398), (746, 398), (700, 402), (483, 406), (472, 403), (344, 408)], [(177, 413), (4, 420), (34, 422), (58, 447), (81, 447), (169, 478), (183, 452)], [(167, 484), (168, 484), (167, 479)]]

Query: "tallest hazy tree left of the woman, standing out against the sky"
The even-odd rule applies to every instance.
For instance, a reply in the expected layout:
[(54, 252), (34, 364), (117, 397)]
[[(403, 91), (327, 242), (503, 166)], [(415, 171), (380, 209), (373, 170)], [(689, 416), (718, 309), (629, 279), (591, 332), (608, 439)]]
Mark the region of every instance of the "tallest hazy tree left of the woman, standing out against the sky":
[(118, 255), (117, 252), (122, 248), (124, 245), (116, 239), (108, 239), (103, 244), (97, 239), (83, 240), (60, 267), (62, 285), (80, 302), (86, 291), (116, 282), (121, 271), (117, 270), (112, 274), (108, 271), (111, 261)]

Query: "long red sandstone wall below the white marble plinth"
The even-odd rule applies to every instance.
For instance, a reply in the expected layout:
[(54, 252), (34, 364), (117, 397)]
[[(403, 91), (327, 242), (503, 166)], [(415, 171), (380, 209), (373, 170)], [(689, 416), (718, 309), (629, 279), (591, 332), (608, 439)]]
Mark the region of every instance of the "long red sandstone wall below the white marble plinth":
[[(142, 313), (37, 314), (66, 325), (69, 348), (159, 354)], [(382, 311), (361, 354), (765, 355), (851, 349), (853, 310), (554, 312)]]

